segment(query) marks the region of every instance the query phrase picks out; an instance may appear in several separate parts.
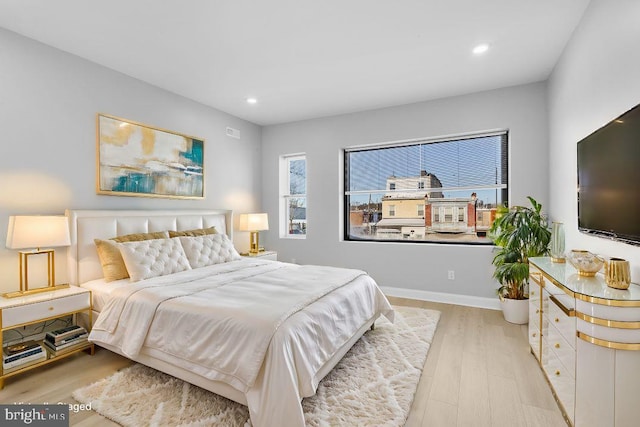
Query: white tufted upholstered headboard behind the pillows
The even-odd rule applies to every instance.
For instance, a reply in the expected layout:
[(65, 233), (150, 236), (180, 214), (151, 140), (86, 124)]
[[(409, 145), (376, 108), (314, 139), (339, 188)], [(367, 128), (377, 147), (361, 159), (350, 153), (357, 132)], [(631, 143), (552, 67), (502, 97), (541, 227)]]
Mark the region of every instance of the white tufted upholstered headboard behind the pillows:
[(102, 277), (93, 239), (109, 239), (131, 233), (190, 230), (216, 227), (233, 239), (230, 210), (73, 210), (69, 218), (71, 247), (68, 250), (69, 283), (78, 285)]

